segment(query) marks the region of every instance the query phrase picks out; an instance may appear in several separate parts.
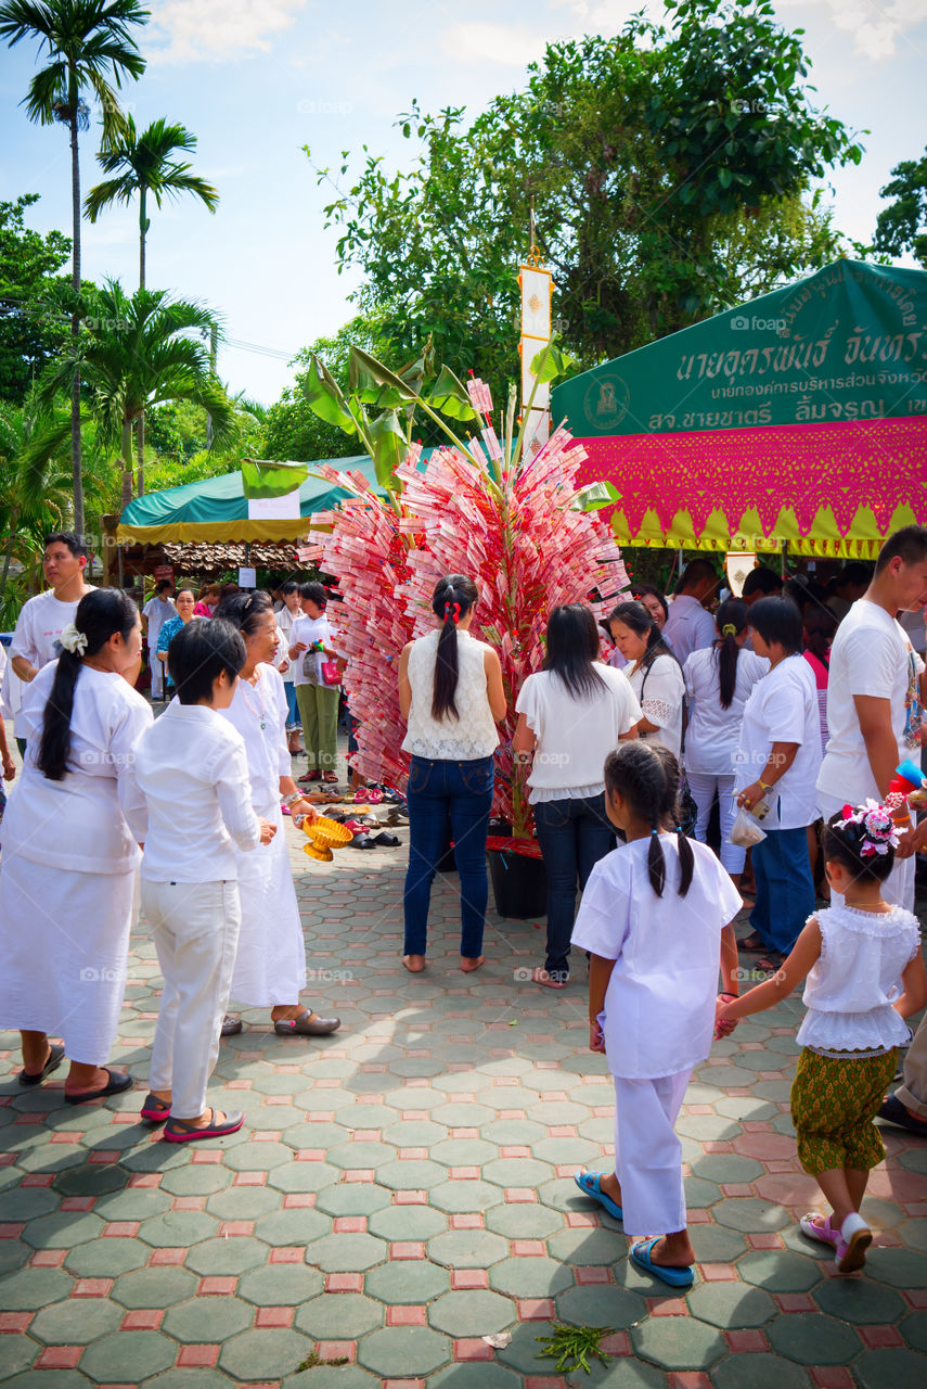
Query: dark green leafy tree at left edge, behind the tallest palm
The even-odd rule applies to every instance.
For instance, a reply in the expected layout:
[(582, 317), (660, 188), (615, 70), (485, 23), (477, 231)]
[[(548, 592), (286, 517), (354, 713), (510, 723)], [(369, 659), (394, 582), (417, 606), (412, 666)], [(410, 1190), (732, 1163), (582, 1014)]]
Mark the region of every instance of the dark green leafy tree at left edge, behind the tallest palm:
[(71, 242), (61, 232), (25, 226), (26, 208), (37, 201), (37, 193), (24, 193), (15, 203), (0, 203), (0, 392), (18, 406), (64, 338), (43, 314), (42, 299), (71, 256)]

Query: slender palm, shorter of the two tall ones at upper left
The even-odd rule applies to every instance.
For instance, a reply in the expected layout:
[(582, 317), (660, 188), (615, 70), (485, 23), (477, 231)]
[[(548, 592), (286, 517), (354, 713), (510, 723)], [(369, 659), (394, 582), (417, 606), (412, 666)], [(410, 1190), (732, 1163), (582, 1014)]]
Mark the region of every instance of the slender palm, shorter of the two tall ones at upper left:
[[(196, 150), (196, 135), (186, 126), (168, 125), (161, 118), (153, 121), (148, 129), (139, 135), (135, 121), (129, 115), (115, 140), (97, 154), (97, 163), (103, 172), (118, 176), (92, 188), (83, 210), (90, 221), (96, 222), (104, 208), (114, 203), (128, 206), (135, 194), (139, 194), (139, 289), (144, 289), (144, 249), (151, 225), (147, 215), (148, 193), (154, 197), (158, 208), (165, 196), (173, 199), (182, 193), (194, 193), (211, 213), (215, 213), (219, 201), (219, 194), (211, 183), (190, 174), (189, 164), (178, 164), (176, 160), (171, 158), (178, 150), (186, 153)], [(136, 433), (137, 482), (139, 496), (142, 496), (144, 492), (144, 411), (139, 415)]]

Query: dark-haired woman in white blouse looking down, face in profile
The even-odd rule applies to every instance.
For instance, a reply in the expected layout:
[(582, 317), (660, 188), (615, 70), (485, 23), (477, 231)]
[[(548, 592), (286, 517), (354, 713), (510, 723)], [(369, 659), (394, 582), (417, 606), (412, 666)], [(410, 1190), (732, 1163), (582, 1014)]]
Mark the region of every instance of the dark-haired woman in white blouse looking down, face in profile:
[(679, 758), (686, 685), (654, 617), (643, 603), (619, 603), (608, 615), (612, 640), (627, 660), (624, 674), (641, 706), (638, 736)]

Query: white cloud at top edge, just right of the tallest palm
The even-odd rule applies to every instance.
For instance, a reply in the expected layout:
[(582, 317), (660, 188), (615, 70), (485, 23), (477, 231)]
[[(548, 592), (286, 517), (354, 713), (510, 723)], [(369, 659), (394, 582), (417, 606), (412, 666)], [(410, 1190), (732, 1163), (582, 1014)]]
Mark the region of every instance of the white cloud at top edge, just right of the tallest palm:
[(269, 53), (271, 40), (289, 29), (307, 0), (155, 0), (151, 35), (165, 47), (148, 50), (154, 63), (246, 58)]

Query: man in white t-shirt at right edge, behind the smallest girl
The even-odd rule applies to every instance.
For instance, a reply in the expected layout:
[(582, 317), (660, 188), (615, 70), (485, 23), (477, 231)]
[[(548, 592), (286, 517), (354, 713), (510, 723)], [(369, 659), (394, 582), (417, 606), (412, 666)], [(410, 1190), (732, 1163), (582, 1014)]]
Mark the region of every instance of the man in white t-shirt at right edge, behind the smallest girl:
[[(837, 628), (830, 650), (827, 726), (830, 739), (817, 776), (827, 820), (847, 803), (884, 801), (895, 767), (920, 758), (927, 696), (924, 663), (896, 614), (927, 603), (927, 526), (909, 525), (890, 536), (862, 599)], [(895, 867), (883, 888), (887, 901), (915, 906), (915, 860), (927, 847), (927, 821), (902, 835)]]

